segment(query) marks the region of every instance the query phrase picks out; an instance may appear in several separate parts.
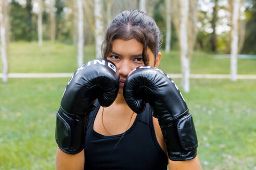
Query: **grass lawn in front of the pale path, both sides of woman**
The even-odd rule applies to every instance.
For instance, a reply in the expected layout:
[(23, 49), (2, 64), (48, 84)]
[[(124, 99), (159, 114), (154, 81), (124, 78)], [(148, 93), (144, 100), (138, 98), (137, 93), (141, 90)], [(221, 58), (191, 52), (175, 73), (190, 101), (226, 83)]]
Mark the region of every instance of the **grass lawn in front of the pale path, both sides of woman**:
[[(55, 117), (68, 80), (0, 82), (0, 169), (55, 168)], [(192, 79), (191, 92), (183, 93), (203, 169), (256, 168), (255, 83)]]

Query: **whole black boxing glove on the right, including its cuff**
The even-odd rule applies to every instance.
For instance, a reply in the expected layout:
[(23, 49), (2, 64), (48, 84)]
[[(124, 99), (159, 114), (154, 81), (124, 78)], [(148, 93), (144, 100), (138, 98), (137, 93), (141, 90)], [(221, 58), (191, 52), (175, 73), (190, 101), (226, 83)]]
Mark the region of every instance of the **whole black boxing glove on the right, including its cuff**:
[(196, 157), (198, 143), (192, 116), (180, 90), (168, 75), (158, 68), (137, 67), (126, 78), (123, 95), (137, 114), (149, 103), (153, 116), (158, 118), (170, 160)]

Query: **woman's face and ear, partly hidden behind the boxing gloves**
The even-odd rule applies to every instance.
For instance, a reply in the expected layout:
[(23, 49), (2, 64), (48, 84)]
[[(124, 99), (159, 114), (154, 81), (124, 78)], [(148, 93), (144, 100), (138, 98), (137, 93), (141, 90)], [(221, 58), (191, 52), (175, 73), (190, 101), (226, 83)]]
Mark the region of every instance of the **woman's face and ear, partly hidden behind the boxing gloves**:
[[(112, 52), (107, 59), (117, 65), (120, 73), (119, 93), (123, 92), (124, 82), (129, 73), (136, 67), (145, 65), (142, 58), (143, 45), (136, 39), (122, 40), (115, 39), (112, 44)], [(155, 59), (153, 52), (147, 48), (148, 65), (158, 67), (161, 59), (159, 52), (158, 58)], [(156, 60), (156, 61), (155, 61)]]

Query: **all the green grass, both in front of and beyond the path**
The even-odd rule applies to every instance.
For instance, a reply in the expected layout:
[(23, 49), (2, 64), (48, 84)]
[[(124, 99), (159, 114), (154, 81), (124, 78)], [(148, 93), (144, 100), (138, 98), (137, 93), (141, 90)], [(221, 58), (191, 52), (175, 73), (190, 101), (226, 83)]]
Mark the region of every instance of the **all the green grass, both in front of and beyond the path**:
[[(36, 42), (9, 44), (10, 73), (72, 73), (73, 45)], [(93, 46), (84, 61), (94, 58)], [(180, 73), (178, 51), (162, 50), (160, 68)], [(229, 74), (229, 59), (200, 51), (191, 59), (191, 73)], [(238, 74), (256, 74), (256, 60), (238, 60)], [(2, 63), (0, 64), (2, 70)], [(0, 169), (54, 169), (55, 121), (69, 78), (0, 81)], [(175, 80), (180, 86), (180, 79)], [(255, 169), (256, 80), (191, 79), (183, 93), (193, 115), (198, 155), (203, 169)]]

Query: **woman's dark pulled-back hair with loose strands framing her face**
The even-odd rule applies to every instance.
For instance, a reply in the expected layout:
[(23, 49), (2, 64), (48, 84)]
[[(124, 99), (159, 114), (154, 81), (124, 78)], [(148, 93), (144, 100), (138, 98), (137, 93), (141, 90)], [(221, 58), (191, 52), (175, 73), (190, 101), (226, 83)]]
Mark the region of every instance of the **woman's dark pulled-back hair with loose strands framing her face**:
[(132, 9), (119, 13), (107, 27), (103, 43), (104, 58), (111, 53), (113, 40), (133, 38), (143, 45), (142, 57), (145, 65), (148, 65), (147, 47), (157, 58), (162, 34), (156, 22), (145, 12)]

